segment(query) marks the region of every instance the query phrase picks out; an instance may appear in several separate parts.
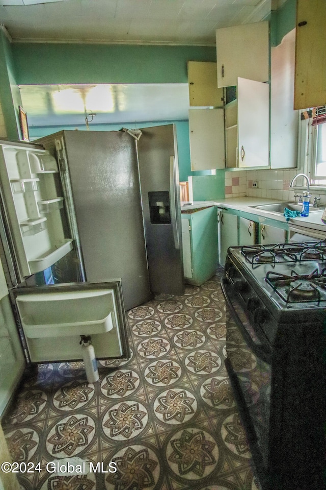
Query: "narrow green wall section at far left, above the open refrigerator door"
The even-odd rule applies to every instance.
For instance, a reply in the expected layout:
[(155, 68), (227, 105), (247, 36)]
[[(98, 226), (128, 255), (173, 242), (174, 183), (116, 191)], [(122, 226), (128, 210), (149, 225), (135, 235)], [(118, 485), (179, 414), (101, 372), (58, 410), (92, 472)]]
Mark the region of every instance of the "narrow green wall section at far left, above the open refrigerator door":
[(21, 106), (20, 92), (15, 78), (12, 44), (0, 30), (0, 101), (4, 113), (7, 137), (20, 139), (18, 106)]

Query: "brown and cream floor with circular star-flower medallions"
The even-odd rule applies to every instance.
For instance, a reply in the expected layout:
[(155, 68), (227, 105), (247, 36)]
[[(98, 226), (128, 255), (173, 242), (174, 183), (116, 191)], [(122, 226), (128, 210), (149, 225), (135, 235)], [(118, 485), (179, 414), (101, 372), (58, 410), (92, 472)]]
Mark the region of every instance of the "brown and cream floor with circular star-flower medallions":
[[(25, 377), (3, 420), (13, 460), (40, 463), (40, 472), (19, 475), (21, 489), (257, 490), (224, 365), (220, 277), (127, 318), (132, 357), (100, 361), (97, 383), (82, 362), (43, 364)], [(46, 471), (72, 457), (95, 471)]]

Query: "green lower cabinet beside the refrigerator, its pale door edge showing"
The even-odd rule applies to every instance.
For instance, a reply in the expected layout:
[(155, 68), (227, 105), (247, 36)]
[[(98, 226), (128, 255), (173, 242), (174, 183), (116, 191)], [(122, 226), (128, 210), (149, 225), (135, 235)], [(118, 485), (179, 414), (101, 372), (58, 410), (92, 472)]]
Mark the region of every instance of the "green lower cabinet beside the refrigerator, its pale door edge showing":
[(182, 211), (181, 225), (184, 280), (200, 286), (215, 274), (218, 263), (215, 206)]

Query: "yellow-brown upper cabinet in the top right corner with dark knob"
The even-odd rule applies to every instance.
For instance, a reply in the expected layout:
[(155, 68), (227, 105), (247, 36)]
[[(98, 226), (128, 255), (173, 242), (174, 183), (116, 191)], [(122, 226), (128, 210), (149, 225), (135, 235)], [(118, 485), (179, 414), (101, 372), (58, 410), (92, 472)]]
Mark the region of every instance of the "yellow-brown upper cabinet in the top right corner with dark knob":
[(326, 104), (325, 19), (325, 0), (297, 0), (294, 109)]

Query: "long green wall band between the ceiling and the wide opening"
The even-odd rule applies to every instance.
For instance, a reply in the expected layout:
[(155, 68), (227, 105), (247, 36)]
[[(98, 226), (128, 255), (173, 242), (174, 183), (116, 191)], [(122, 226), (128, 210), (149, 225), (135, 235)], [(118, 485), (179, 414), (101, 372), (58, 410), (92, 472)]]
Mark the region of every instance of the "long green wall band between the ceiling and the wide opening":
[(13, 43), (18, 84), (187, 83), (187, 61), (215, 47)]

